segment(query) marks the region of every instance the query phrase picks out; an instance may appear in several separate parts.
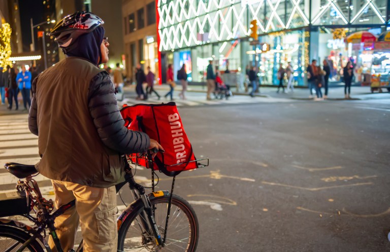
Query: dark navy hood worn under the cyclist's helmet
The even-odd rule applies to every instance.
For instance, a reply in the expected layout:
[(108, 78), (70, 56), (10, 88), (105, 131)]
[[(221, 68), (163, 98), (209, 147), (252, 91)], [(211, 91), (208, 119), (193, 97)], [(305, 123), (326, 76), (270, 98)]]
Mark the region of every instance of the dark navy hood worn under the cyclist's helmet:
[(67, 56), (85, 58), (94, 65), (100, 65), (102, 63), (100, 45), (103, 42), (104, 32), (103, 26), (99, 26), (92, 32), (81, 35), (77, 38), (77, 46), (67, 52)]

